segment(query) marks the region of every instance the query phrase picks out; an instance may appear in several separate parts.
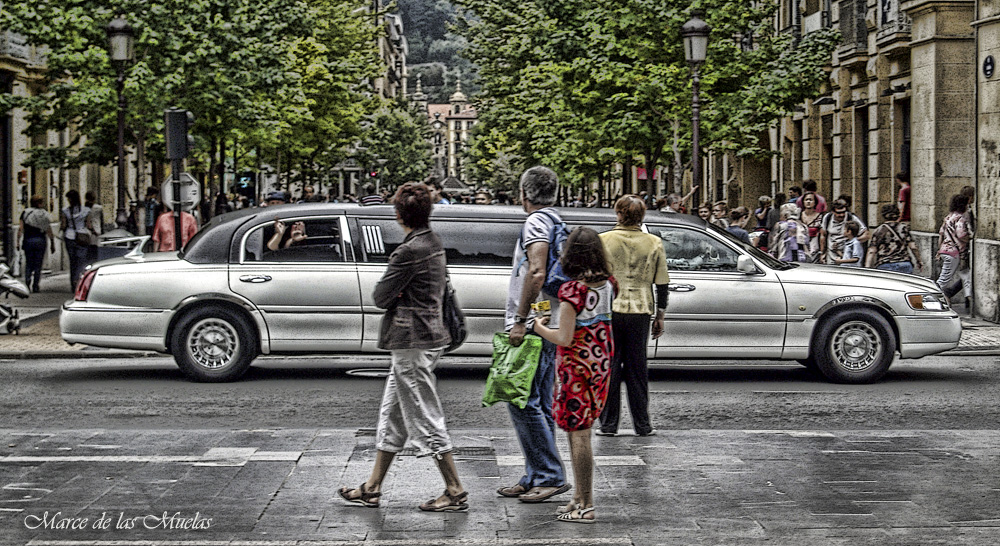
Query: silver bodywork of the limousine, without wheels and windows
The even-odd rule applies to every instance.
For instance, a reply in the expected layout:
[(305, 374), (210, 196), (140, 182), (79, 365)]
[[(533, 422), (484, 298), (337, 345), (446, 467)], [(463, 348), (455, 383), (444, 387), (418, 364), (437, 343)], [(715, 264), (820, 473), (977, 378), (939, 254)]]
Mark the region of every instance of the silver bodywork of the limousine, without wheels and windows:
[[(92, 266), (98, 271), (88, 300), (63, 306), (63, 338), (94, 346), (166, 351), (170, 328), (184, 309), (225, 302), (239, 306), (252, 319), (265, 354), (375, 352), (383, 312), (375, 307), (371, 294), (385, 264), (384, 259), (382, 263), (369, 261), (365, 249), (381, 241), (354, 240), (372, 239), (378, 232), (359, 235), (351, 220), (370, 216), (384, 223), (394, 218), (373, 208), (339, 207), (308, 214), (293, 207), (280, 208), (286, 222), (323, 218), (338, 223), (342, 261), (278, 262), (248, 256), (248, 241), (262, 237), (264, 227), (274, 220), (268, 211), (256, 216), (246, 212), (232, 221), (239, 227), (230, 231), (234, 239), (226, 248), (231, 250), (218, 263), (192, 263), (176, 252), (99, 262)], [(487, 233), (506, 239), (518, 232), (512, 226), (523, 223), (523, 216), (512, 214), (509, 208), (477, 208), (486, 215), (477, 218), (451, 217), (446, 212), (468, 211), (468, 207), (443, 209), (435, 212), (439, 216), (435, 226), (457, 222), (469, 233), (491, 230)], [(497, 219), (488, 218), (490, 210), (500, 211)], [(613, 213), (607, 213), (590, 212), (593, 218), (583, 220), (574, 219), (570, 211), (564, 216), (571, 227), (586, 224), (604, 231), (613, 222)], [(455, 225), (451, 228), (454, 232)], [(721, 256), (722, 262), (716, 269), (671, 267), (665, 333), (649, 344), (648, 352), (655, 358), (806, 358), (816, 328), (831, 313), (857, 307), (875, 310), (890, 320), (903, 358), (919, 358), (958, 344), (961, 322), (957, 314), (915, 311), (907, 303), (907, 294), (939, 292), (928, 279), (812, 264), (774, 269), (734, 240), (690, 220), (660, 220), (650, 213), (646, 228), (663, 237), (667, 248), (678, 237), (709, 241), (715, 245), (717, 256), (713, 257)], [(514, 241), (503, 243), (508, 244), (512, 249)], [(384, 250), (387, 255), (389, 249)], [(751, 257), (753, 272), (735, 270), (735, 258), (740, 255)], [(668, 263), (673, 258), (668, 250)], [(510, 268), (509, 263), (449, 265), (469, 329), (466, 343), (456, 354), (492, 351), (493, 333), (503, 327)]]

